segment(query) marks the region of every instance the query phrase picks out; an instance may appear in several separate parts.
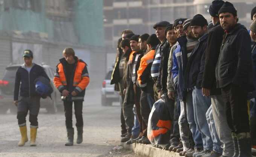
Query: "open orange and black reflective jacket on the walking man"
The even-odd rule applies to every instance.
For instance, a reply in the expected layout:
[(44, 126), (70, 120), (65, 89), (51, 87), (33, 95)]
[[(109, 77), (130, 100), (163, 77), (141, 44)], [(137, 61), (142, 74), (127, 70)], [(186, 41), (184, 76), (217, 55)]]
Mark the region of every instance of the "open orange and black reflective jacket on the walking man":
[[(55, 87), (62, 93), (63, 90), (69, 91), (69, 96), (67, 100), (84, 100), (85, 88), (90, 82), (89, 73), (87, 70), (87, 65), (84, 61), (79, 60), (75, 56), (75, 68), (73, 70), (72, 76), (67, 77), (67, 66), (69, 66), (65, 58), (61, 58), (60, 63), (56, 66), (56, 73), (53, 78)], [(70, 78), (69, 81), (66, 79)], [(67, 84), (69, 82), (69, 84)], [(75, 91), (76, 96), (72, 96), (71, 93)]]

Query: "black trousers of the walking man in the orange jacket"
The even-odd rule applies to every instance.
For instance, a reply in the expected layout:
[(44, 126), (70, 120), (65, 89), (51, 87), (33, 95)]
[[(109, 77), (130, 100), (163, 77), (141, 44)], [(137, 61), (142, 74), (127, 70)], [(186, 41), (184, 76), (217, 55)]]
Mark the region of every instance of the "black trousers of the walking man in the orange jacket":
[[(73, 108), (73, 102), (64, 101), (64, 111), (65, 111), (67, 129), (73, 128), (72, 108)], [(84, 121), (82, 117), (83, 101), (82, 100), (74, 101), (74, 109), (75, 109), (75, 117), (76, 117), (76, 127), (84, 126)]]

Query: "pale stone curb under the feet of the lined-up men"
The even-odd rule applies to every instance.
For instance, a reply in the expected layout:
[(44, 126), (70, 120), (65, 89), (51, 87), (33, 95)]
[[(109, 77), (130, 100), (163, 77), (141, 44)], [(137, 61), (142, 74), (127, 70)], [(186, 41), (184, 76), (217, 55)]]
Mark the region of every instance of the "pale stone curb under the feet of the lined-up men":
[(132, 150), (134, 153), (143, 157), (181, 157), (179, 153), (155, 148), (151, 144), (145, 145), (134, 143), (126, 145), (125, 143), (121, 143), (121, 145), (123, 146), (123, 149)]

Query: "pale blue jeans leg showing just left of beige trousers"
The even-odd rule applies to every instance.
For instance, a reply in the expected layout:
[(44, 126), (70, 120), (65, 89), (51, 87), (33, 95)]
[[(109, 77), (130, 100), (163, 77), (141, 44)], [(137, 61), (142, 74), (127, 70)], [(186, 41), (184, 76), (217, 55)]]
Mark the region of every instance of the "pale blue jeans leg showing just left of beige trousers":
[(207, 119), (207, 123), (208, 123), (210, 133), (212, 136), (213, 151), (215, 151), (219, 154), (222, 154), (221, 141), (219, 140), (219, 136), (217, 134), (217, 130), (216, 130), (213, 115), (212, 115), (212, 105), (206, 112), (206, 119)]

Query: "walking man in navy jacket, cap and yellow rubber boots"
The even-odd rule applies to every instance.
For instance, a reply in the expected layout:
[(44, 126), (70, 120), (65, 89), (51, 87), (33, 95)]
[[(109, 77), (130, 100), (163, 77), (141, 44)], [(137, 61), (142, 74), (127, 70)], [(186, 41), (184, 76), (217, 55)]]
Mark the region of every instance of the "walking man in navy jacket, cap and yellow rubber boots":
[[(35, 91), (35, 79), (43, 76), (49, 81), (43, 67), (33, 63), (33, 52), (25, 50), (23, 54), (24, 64), (16, 72), (14, 88), (14, 104), (17, 106), (17, 119), (20, 127), (21, 140), (18, 146), (24, 146), (28, 141), (26, 116), (29, 111), (30, 121), (30, 146), (36, 146), (38, 121), (37, 116), (40, 109), (40, 95)], [(19, 95), (20, 93), (20, 95)]]

